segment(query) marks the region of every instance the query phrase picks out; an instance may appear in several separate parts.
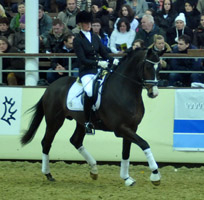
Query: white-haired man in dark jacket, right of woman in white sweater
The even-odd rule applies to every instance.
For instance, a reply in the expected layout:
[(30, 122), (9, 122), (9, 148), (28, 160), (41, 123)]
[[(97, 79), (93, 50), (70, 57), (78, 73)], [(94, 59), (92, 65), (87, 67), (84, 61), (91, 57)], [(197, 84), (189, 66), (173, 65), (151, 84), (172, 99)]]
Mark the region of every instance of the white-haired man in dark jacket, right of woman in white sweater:
[(155, 23), (152, 15), (145, 14), (141, 20), (141, 27), (139, 28), (135, 39), (142, 39), (145, 42), (145, 46), (148, 47), (154, 42), (154, 35), (163, 35), (165, 33)]

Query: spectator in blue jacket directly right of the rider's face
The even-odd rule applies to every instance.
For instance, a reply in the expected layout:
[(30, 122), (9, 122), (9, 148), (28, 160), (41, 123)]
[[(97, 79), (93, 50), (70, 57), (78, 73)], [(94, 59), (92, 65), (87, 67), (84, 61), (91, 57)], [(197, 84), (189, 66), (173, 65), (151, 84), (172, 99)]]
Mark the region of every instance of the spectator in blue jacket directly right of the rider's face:
[(91, 23), (92, 32), (95, 33), (101, 40), (102, 44), (105, 46), (106, 50), (110, 53), (110, 38), (107, 33), (101, 28), (101, 20), (94, 19)]

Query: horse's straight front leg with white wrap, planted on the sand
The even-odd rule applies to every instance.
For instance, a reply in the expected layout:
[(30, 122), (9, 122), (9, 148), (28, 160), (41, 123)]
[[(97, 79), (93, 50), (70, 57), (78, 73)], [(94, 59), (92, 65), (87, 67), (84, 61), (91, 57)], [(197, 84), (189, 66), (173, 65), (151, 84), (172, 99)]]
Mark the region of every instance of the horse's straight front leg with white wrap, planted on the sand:
[(123, 152), (120, 164), (120, 177), (125, 181), (126, 186), (133, 186), (136, 181), (129, 176), (129, 157), (130, 157), (131, 142), (123, 139)]

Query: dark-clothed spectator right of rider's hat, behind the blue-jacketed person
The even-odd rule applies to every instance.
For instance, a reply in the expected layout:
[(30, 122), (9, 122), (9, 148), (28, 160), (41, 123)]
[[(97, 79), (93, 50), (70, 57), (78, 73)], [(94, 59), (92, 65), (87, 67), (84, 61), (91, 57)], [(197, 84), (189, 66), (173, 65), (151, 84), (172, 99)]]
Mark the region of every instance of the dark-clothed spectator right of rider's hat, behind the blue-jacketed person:
[(110, 14), (107, 10), (106, 6), (102, 6), (102, 2), (100, 0), (92, 0), (91, 4), (91, 13), (93, 19), (100, 19), (101, 20), (101, 27), (102, 29), (108, 34), (111, 34), (111, 27), (110, 27)]

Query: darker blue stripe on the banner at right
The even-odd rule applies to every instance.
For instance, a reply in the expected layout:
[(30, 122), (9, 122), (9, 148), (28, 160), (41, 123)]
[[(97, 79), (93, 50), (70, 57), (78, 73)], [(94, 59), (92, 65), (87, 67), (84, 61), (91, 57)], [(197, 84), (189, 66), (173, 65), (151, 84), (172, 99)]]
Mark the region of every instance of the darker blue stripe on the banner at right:
[(174, 120), (174, 133), (204, 133), (204, 120)]

